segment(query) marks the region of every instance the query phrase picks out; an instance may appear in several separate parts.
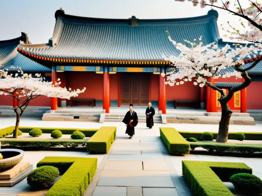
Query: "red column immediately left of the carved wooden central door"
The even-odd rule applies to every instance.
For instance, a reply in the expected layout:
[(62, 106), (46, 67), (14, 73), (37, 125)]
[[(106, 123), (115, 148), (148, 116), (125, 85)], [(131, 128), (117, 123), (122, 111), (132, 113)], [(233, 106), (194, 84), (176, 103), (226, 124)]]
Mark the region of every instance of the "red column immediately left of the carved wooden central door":
[(106, 113), (109, 113), (110, 108), (110, 80), (109, 80), (109, 70), (108, 67), (104, 67), (103, 72), (103, 109)]

